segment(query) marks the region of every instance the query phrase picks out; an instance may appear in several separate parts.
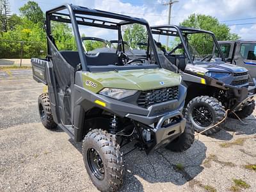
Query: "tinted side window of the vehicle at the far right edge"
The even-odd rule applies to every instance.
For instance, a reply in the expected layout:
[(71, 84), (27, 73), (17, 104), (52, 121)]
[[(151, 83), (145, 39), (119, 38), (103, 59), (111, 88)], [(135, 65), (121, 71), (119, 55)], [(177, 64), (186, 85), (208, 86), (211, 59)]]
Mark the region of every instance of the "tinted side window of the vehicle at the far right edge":
[(256, 43), (241, 44), (240, 54), (244, 60), (256, 61)]

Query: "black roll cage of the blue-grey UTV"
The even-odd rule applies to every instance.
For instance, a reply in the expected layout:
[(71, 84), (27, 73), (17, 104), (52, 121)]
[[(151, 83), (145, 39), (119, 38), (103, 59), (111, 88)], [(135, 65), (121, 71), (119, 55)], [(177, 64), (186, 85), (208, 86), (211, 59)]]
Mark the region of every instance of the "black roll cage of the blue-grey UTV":
[[(168, 28), (168, 29), (166, 29), (166, 28)], [(173, 31), (171, 29), (175, 29), (176, 31)], [(220, 49), (220, 45), (218, 44), (218, 41), (216, 40), (216, 36), (211, 31), (205, 31), (205, 30), (194, 29), (194, 28), (185, 28), (182, 26), (175, 26), (175, 25), (152, 26), (151, 30), (152, 30), (152, 34), (156, 34), (156, 35), (179, 36), (180, 40), (183, 44), (185, 54), (187, 55), (190, 63), (193, 65), (194, 65), (194, 61), (192, 60), (191, 55), (188, 51), (188, 47), (186, 44), (186, 42), (188, 42), (188, 41), (186, 38), (189, 34), (193, 34), (193, 33), (207, 33), (212, 36), (212, 38), (214, 40), (214, 44), (215, 44), (214, 47), (216, 46), (218, 48), (218, 51), (220, 52), (220, 55), (221, 55), (221, 59), (224, 62), (226, 62), (223, 52)]]

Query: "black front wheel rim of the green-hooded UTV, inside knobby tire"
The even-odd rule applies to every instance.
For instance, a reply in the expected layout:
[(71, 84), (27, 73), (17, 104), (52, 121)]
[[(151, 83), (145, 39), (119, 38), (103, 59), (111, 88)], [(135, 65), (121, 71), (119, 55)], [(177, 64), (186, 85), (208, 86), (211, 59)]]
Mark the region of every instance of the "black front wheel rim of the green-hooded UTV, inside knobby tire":
[(94, 148), (89, 148), (87, 151), (87, 161), (93, 175), (99, 180), (104, 179), (105, 169), (99, 152)]

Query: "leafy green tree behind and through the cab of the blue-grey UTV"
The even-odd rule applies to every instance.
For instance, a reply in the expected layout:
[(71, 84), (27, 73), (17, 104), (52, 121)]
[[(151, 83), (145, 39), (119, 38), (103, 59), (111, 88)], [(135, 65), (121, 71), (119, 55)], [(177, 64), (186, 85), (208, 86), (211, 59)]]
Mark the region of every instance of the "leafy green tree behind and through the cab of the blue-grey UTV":
[[(221, 24), (218, 19), (210, 15), (196, 15), (194, 13), (190, 15), (188, 19), (180, 23), (180, 26), (212, 31), (219, 41), (239, 39), (237, 34), (230, 32), (230, 28), (228, 28), (226, 24)], [(211, 36), (205, 34), (190, 35), (188, 36), (188, 40), (189, 44), (192, 45), (199, 54), (211, 54), (213, 49)]]

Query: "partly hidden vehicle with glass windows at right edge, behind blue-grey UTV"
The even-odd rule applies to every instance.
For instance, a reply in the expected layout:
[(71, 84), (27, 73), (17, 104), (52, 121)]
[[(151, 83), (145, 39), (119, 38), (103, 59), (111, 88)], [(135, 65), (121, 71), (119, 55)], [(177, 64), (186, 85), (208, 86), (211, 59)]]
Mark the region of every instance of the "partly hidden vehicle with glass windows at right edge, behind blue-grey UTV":
[(250, 75), (249, 81), (256, 78), (256, 40), (221, 41), (221, 51), (227, 63), (245, 67)]

